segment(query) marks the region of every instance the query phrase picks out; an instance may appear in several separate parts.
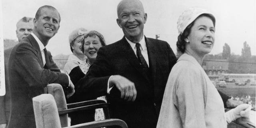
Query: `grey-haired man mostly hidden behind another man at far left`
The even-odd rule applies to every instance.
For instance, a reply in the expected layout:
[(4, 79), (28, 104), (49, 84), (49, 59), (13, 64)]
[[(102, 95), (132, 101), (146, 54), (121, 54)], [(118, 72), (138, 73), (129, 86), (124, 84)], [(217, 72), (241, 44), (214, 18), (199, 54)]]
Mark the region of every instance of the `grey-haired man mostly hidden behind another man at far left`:
[[(16, 24), (16, 36), (18, 41), (20, 42), (23, 38), (26, 38), (33, 30), (34, 23), (33, 18), (23, 17)], [(5, 74), (5, 88), (6, 93), (5, 96), (0, 96), (0, 128), (6, 128), (9, 116), (10, 116), (10, 91), (8, 86), (8, 60), (12, 48), (8, 48), (4, 50), (4, 74)]]

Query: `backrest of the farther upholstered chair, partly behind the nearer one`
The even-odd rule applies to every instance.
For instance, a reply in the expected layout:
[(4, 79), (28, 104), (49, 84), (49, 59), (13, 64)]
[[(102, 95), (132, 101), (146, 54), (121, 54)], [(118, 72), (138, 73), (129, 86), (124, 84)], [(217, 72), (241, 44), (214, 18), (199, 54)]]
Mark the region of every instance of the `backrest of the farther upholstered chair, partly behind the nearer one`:
[[(65, 99), (64, 91), (60, 84), (48, 84), (47, 93), (52, 94), (54, 97), (58, 110), (67, 109), (67, 102)], [(60, 115), (60, 124), (62, 127), (68, 126), (68, 114)]]

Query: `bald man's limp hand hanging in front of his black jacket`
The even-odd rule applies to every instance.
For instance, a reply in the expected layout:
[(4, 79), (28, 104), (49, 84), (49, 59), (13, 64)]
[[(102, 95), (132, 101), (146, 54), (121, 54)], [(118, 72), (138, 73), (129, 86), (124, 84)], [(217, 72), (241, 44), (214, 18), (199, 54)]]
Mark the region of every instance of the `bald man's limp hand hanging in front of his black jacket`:
[(137, 90), (133, 82), (127, 78), (114, 75), (109, 79), (110, 85), (115, 85), (116, 88), (121, 92), (121, 98), (127, 101), (134, 101), (137, 96)]

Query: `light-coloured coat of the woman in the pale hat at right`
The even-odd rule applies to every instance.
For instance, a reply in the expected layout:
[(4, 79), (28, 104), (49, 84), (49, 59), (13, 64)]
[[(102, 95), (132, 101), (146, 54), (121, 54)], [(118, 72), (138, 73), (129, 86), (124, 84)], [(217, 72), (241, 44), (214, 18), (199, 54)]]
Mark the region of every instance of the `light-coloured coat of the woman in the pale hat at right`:
[(183, 54), (170, 72), (157, 128), (226, 128), (220, 94), (195, 58)]

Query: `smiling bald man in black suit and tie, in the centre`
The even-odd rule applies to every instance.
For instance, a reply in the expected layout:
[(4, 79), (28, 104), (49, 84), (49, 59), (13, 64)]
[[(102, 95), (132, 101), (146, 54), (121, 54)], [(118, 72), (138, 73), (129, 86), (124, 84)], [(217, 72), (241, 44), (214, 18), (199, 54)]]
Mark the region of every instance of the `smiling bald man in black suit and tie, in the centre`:
[(155, 128), (176, 57), (167, 42), (144, 36), (147, 14), (140, 1), (122, 0), (117, 10), (124, 37), (98, 50), (76, 91), (92, 98), (108, 92), (111, 118), (129, 128)]

